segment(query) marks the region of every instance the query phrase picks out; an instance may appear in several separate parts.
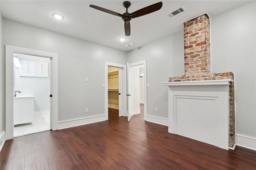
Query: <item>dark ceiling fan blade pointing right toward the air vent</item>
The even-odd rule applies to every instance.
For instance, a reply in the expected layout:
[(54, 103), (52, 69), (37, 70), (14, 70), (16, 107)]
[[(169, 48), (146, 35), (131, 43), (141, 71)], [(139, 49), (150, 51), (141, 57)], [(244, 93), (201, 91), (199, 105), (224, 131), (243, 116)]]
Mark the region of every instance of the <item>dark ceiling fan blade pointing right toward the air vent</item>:
[(150, 14), (151, 12), (155, 12), (157, 10), (160, 10), (162, 8), (162, 5), (163, 5), (162, 2), (158, 2), (156, 4), (153, 4), (153, 5), (147, 6), (145, 8), (142, 8), (138, 11), (132, 12), (130, 14), (130, 16), (132, 16), (132, 18), (136, 18), (136, 17), (139, 17), (139, 16)]

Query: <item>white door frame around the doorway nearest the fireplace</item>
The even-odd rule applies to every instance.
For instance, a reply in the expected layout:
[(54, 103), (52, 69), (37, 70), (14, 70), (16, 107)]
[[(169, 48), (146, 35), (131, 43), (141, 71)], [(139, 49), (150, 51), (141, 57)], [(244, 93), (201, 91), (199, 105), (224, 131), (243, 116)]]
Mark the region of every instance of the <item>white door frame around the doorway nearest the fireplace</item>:
[[(147, 118), (147, 61), (146, 60), (142, 60), (142, 61), (137, 61), (134, 63), (129, 63), (129, 67), (135, 67), (135, 66), (139, 66), (139, 65), (144, 65), (144, 121), (146, 121)], [(129, 68), (127, 68), (128, 70)], [(130, 78), (133, 75), (130, 75)], [(131, 81), (131, 80), (128, 80)], [(129, 92), (130, 95), (132, 95), (132, 91)]]

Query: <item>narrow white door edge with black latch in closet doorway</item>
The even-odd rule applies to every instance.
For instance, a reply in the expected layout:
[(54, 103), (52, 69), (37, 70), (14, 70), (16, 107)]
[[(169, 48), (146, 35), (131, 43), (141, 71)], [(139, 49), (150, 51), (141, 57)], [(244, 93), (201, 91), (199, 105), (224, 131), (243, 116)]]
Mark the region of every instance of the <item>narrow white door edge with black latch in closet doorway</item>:
[(124, 100), (123, 100), (123, 68), (119, 67), (118, 70), (118, 106), (119, 117), (124, 116)]

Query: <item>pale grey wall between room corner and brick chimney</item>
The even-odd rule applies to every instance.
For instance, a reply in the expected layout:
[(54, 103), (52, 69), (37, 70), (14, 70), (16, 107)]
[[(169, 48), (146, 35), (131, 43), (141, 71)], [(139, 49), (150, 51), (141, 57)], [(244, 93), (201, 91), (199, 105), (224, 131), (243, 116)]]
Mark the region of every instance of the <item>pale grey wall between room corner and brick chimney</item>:
[(127, 55), (129, 63), (147, 60), (147, 83), (150, 83), (146, 89), (147, 115), (168, 119), (168, 87), (162, 82), (167, 82), (168, 77), (184, 75), (183, 31), (129, 51)]

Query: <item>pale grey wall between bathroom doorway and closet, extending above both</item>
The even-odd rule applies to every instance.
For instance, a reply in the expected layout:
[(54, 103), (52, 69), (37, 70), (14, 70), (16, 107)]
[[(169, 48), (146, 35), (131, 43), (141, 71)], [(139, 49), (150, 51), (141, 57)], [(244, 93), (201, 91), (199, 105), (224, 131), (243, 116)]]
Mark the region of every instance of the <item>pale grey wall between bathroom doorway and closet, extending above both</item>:
[(4, 44), (58, 53), (58, 121), (104, 115), (105, 61), (126, 64), (124, 51), (5, 19)]

